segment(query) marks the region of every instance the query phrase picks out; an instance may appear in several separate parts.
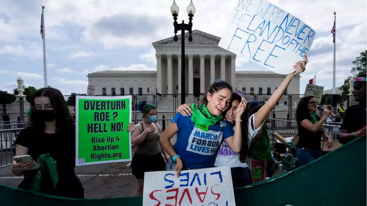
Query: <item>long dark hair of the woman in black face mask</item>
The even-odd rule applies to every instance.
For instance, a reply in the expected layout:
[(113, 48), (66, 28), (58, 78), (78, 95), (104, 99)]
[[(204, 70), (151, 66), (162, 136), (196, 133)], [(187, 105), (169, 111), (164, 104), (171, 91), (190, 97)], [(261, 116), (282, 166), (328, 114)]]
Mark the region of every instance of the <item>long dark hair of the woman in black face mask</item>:
[[(34, 93), (30, 103), (31, 108), (34, 108), (35, 106), (34, 99), (41, 96), (50, 99), (51, 105), (55, 110), (56, 131), (60, 129), (69, 129), (70, 125), (73, 125), (74, 121), (62, 93), (55, 88), (41, 88)], [(43, 120), (37, 118), (37, 114), (38, 113), (33, 109), (30, 110), (30, 126), (43, 130), (45, 123)]]

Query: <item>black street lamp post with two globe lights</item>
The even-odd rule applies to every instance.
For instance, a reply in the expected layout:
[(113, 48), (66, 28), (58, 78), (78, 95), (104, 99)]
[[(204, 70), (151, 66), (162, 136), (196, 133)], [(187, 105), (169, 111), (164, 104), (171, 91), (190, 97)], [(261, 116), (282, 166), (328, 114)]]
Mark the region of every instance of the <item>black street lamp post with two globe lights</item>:
[(175, 27), (175, 36), (173, 40), (175, 42), (178, 41), (177, 32), (181, 30), (181, 104), (185, 104), (185, 30), (189, 32), (189, 42), (192, 41), (192, 18), (195, 14), (195, 6), (190, 2), (189, 6), (187, 7), (187, 13), (189, 15), (189, 23), (177, 23), (177, 16), (178, 16), (179, 8), (175, 1), (171, 6), (171, 13), (174, 19), (173, 26)]

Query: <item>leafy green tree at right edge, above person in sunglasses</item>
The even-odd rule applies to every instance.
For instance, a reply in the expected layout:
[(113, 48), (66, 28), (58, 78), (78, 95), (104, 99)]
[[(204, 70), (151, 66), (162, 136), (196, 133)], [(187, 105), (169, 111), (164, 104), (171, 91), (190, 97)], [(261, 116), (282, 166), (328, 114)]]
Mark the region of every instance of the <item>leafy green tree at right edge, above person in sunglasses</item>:
[(352, 76), (349, 76), (344, 80), (344, 84), (339, 88), (342, 90), (343, 95), (349, 94), (349, 80), (354, 79), (360, 74), (367, 74), (367, 50), (364, 52), (359, 53), (360, 56), (357, 56), (356, 60), (352, 62), (354, 67), (352, 67), (352, 70), (350, 72), (352, 73)]

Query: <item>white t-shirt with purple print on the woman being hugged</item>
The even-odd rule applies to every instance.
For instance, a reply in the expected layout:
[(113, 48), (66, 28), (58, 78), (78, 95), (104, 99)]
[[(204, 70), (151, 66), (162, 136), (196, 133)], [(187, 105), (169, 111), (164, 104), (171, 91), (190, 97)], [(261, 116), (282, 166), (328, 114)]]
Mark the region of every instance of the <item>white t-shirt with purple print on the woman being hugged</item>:
[[(255, 113), (256, 114), (256, 113)], [(259, 126), (259, 128), (255, 129), (254, 126), (254, 115), (252, 114), (250, 118), (248, 118), (248, 147), (250, 147), (250, 143), (252, 141), (252, 139), (254, 139), (255, 135), (257, 134), (257, 132), (260, 130), (261, 126)], [(233, 127), (233, 129), (235, 129), (235, 127)], [(225, 167), (225, 166), (230, 166), (231, 168), (237, 168), (237, 167), (242, 167), (242, 168), (246, 168), (248, 167), (247, 163), (243, 163), (240, 161), (240, 155), (237, 152), (233, 152), (230, 147), (228, 146), (228, 144), (226, 143), (226, 141), (223, 142), (221, 148), (219, 148), (218, 151), (218, 155), (217, 158), (215, 159), (215, 163), (214, 166), (216, 167)]]

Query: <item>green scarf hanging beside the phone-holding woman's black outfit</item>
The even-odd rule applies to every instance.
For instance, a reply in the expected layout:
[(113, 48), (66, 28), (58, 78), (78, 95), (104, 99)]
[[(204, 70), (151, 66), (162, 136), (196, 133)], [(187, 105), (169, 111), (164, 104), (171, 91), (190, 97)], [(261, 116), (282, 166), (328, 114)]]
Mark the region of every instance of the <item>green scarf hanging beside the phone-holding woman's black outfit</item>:
[(56, 160), (50, 157), (50, 153), (42, 154), (37, 159), (38, 171), (36, 176), (34, 176), (30, 190), (40, 191), (41, 180), (45, 178), (50, 178), (52, 186), (55, 188), (59, 182), (59, 176), (56, 169)]

